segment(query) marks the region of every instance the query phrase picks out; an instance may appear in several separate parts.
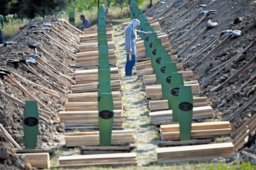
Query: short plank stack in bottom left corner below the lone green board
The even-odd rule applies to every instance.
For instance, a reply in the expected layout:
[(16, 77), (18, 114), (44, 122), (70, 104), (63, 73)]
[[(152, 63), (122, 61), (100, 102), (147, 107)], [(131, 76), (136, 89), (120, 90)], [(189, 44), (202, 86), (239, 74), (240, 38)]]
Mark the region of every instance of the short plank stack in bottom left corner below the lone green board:
[(28, 163), (35, 168), (50, 168), (49, 153), (19, 153), (17, 155), (26, 156)]

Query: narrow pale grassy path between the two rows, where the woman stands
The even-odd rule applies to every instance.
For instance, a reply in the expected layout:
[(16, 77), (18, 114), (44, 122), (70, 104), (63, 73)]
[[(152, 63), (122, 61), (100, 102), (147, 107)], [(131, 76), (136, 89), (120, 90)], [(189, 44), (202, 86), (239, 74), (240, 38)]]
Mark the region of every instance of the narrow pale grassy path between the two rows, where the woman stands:
[[(124, 50), (125, 36), (122, 25), (113, 26), (113, 39), (116, 42), (116, 58), (121, 72), (121, 92), (123, 101), (124, 128), (133, 129), (135, 134), (135, 152), (139, 165), (156, 162), (157, 143), (159, 136), (149, 121), (148, 100), (142, 89), (142, 81), (138, 78), (125, 79), (126, 54)], [(133, 70), (135, 73), (135, 70)], [(136, 75), (135, 75), (136, 76)], [(137, 77), (137, 76), (136, 76)]]

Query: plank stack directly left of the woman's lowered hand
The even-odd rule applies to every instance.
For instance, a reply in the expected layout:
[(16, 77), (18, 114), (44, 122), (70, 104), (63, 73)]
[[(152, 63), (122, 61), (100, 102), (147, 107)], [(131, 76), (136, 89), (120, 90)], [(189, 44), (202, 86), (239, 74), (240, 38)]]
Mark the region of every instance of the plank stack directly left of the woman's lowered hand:
[[(99, 51), (88, 51), (76, 53), (76, 67), (97, 66)], [(109, 64), (116, 65), (116, 54), (114, 49), (109, 49)]]

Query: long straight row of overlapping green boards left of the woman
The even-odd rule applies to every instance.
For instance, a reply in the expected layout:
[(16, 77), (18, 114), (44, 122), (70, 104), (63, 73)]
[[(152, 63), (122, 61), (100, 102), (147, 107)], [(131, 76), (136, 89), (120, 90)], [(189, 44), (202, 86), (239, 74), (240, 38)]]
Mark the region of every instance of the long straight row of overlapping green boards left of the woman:
[(110, 65), (107, 46), (106, 19), (104, 8), (99, 6), (98, 10), (98, 111), (100, 146), (111, 145), (111, 132), (114, 119), (114, 104), (111, 93)]

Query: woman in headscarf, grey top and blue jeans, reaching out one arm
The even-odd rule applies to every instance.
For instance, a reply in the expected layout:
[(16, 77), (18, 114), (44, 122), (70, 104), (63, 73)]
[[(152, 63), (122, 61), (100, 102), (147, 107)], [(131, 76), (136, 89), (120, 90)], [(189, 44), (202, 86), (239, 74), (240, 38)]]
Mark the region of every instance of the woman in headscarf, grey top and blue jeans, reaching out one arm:
[[(140, 25), (138, 19), (133, 19), (125, 28), (125, 52), (126, 52), (126, 64), (125, 64), (125, 77), (126, 79), (134, 78), (131, 76), (133, 66), (136, 61), (136, 37), (137, 34), (152, 34), (151, 31), (144, 32), (137, 30), (137, 27)], [(131, 54), (131, 59), (129, 60), (129, 54)]]

